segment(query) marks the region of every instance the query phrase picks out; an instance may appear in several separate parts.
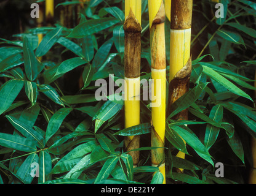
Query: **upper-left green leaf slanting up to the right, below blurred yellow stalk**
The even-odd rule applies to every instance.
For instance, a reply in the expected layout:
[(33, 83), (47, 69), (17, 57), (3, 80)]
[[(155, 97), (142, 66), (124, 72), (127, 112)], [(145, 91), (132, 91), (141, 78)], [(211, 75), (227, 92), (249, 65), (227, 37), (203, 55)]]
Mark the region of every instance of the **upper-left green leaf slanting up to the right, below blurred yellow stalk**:
[(58, 38), (62, 34), (62, 27), (56, 28), (46, 34), (42, 41), (39, 43), (38, 48), (36, 49), (36, 56), (43, 56), (45, 55), (50, 48), (57, 42)]

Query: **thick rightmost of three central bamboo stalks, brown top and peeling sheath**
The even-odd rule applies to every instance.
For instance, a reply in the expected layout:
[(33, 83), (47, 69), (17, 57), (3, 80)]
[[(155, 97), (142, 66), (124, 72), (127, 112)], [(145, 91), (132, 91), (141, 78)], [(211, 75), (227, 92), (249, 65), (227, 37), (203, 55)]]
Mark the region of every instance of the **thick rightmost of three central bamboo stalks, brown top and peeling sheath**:
[[(172, 0), (170, 17), (170, 102), (172, 104), (189, 89), (191, 75), (191, 22), (193, 0)], [(188, 119), (188, 110), (183, 110), (174, 119)], [(185, 159), (185, 153), (178, 152), (177, 157)], [(182, 169), (180, 169), (183, 172)]]

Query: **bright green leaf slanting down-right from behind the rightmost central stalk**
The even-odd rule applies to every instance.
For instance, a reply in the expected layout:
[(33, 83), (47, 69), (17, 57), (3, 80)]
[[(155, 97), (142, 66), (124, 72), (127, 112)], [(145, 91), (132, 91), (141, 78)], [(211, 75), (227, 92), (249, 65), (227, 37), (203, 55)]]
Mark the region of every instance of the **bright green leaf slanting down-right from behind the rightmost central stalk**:
[(182, 128), (180, 126), (170, 126), (170, 129), (177, 132), (177, 134), (180, 135), (180, 137), (182, 137), (183, 140), (185, 140), (186, 143), (188, 143), (188, 145), (190, 145), (199, 156), (214, 166), (214, 162), (212, 161), (206, 146), (201, 143), (198, 137), (196, 137), (196, 135), (194, 135), (193, 132), (188, 129), (188, 127), (183, 126)]

